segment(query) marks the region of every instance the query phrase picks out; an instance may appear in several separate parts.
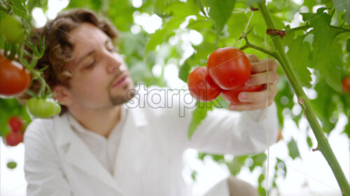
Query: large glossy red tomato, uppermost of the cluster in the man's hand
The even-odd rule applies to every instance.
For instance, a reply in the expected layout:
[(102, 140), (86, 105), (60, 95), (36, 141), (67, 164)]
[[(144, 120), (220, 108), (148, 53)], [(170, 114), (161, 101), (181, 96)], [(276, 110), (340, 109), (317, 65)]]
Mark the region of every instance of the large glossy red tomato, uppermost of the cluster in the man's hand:
[(235, 47), (222, 47), (212, 52), (207, 68), (214, 82), (226, 90), (244, 85), (251, 75), (251, 61)]

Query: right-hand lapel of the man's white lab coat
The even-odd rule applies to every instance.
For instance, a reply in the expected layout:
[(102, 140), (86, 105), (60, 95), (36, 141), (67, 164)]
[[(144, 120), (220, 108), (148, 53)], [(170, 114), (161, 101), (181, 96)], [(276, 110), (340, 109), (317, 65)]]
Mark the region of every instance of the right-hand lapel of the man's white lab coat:
[[(147, 169), (145, 160), (149, 158), (152, 148), (151, 130), (147, 126), (145, 111), (141, 108), (128, 108), (128, 110), (114, 167), (115, 178), (126, 190), (134, 188), (136, 181), (142, 181)], [(142, 190), (141, 184), (137, 186)]]

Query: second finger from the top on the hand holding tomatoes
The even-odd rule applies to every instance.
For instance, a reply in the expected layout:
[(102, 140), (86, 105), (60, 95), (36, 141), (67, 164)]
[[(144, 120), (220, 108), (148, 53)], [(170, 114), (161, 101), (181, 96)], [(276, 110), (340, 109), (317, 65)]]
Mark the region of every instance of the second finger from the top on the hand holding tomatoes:
[(255, 86), (267, 83), (276, 84), (277, 82), (279, 82), (279, 75), (275, 71), (269, 70), (268, 72), (264, 73), (252, 74), (251, 77), (249, 77), (248, 81), (246, 81), (245, 85)]

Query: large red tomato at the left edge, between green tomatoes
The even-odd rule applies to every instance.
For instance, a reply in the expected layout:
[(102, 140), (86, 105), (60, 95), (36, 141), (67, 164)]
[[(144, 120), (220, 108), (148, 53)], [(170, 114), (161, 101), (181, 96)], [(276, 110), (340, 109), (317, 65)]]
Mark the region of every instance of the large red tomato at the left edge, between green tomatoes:
[(0, 54), (0, 95), (17, 96), (31, 84), (31, 73), (17, 61)]

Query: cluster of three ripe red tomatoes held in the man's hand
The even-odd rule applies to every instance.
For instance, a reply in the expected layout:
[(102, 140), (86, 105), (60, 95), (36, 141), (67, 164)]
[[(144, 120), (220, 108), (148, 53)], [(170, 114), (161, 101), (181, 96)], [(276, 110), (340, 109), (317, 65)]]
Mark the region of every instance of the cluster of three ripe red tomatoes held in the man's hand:
[(216, 99), (219, 94), (232, 105), (241, 105), (242, 91), (261, 91), (262, 85), (244, 86), (251, 76), (251, 61), (235, 47), (223, 47), (209, 55), (207, 67), (199, 67), (188, 75), (191, 95), (202, 102)]

